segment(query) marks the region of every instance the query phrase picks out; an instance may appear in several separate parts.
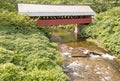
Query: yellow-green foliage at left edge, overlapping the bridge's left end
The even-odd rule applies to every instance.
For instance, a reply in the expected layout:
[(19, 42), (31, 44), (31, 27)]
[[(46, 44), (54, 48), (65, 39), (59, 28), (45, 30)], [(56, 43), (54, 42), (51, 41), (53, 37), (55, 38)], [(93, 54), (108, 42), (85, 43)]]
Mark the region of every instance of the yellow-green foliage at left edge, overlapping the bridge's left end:
[(0, 9), (0, 25), (16, 26), (16, 27), (34, 27), (35, 21), (27, 16), (18, 15), (15, 12)]

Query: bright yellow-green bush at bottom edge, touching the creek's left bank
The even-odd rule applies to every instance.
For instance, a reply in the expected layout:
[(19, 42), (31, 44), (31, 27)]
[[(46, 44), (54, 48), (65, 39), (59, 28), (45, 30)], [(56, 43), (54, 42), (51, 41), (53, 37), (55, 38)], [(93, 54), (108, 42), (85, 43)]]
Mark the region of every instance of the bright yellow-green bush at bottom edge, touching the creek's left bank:
[(68, 81), (61, 71), (62, 69), (59, 67), (47, 71), (35, 68), (27, 74), (25, 81)]

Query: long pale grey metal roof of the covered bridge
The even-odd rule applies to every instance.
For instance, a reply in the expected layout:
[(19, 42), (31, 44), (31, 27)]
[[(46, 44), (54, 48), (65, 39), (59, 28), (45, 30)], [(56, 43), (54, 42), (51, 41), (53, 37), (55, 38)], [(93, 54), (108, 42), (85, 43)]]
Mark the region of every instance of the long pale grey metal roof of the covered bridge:
[(18, 13), (28, 16), (95, 15), (89, 6), (18, 4)]

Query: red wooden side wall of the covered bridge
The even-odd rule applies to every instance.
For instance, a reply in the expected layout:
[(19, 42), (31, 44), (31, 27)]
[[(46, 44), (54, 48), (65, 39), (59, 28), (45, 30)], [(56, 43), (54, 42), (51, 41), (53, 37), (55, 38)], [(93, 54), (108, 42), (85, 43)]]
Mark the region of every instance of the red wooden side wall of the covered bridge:
[(62, 24), (88, 24), (92, 22), (91, 17), (76, 18), (76, 19), (46, 19), (38, 20), (38, 26), (51, 26), (51, 25), (62, 25)]

